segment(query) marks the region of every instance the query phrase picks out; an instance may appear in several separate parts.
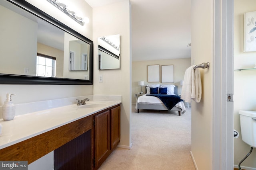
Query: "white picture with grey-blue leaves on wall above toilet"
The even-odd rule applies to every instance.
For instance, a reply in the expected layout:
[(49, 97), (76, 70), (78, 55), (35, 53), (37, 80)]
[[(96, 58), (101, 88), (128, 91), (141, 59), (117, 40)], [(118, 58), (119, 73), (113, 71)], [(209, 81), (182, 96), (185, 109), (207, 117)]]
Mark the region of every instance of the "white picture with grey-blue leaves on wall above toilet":
[(244, 52), (256, 51), (256, 11), (244, 13)]

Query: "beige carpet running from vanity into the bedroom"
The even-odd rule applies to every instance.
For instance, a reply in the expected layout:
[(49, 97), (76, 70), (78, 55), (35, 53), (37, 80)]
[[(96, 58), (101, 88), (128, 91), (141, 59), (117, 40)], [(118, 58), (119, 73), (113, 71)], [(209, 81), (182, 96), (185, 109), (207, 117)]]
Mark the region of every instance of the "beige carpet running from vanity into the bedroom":
[[(191, 109), (178, 111), (132, 108), (132, 148), (116, 148), (100, 170), (195, 170), (191, 150)], [(122, 134), (121, 134), (122, 135)]]

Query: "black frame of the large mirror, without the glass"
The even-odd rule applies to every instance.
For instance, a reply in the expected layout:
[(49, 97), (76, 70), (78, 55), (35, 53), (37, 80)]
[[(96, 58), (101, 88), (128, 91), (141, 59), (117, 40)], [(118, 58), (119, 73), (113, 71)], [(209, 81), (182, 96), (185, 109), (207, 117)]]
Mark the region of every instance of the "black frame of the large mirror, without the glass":
[(42, 20), (47, 21), (55, 25), (56, 27), (62, 29), (63, 31), (70, 33), (71, 35), (85, 41), (90, 44), (90, 54), (89, 54), (89, 71), (90, 79), (89, 80), (80, 80), (80, 79), (70, 79), (70, 78), (52, 78), (52, 77), (37, 77), (37, 76), (23, 76), (16, 74), (0, 74), (0, 84), (62, 84), (62, 85), (92, 85), (93, 82), (93, 41), (84, 37), (82, 34), (74, 31), (67, 25), (64, 25), (60, 21), (46, 14), (42, 10), (36, 8), (32, 4), (26, 2), (25, 0), (6, 0), (12, 4), (22, 8), (34, 14), (35, 16), (41, 18)]

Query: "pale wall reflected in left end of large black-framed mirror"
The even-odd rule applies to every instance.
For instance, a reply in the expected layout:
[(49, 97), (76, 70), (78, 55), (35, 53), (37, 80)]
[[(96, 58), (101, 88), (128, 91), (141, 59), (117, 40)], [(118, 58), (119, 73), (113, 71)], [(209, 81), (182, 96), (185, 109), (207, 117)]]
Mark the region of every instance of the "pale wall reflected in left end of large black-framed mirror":
[(0, 16), (0, 72), (24, 75), (24, 68), (28, 68), (29, 73), (35, 75), (37, 23), (3, 6), (0, 11), (5, 14)]

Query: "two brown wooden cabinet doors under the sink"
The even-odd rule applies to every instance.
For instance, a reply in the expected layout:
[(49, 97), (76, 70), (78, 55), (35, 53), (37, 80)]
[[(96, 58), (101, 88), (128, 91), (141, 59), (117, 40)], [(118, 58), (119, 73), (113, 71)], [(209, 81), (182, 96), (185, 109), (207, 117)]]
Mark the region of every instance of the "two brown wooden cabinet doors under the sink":
[(108, 158), (120, 142), (120, 106), (95, 115), (95, 169)]

